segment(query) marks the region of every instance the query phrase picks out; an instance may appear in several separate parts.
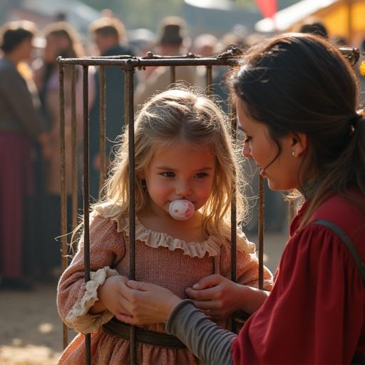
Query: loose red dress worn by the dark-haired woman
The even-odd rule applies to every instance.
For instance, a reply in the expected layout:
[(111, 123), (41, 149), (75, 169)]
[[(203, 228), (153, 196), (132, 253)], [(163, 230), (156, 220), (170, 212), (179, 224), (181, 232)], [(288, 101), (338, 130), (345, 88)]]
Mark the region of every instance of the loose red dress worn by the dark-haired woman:
[[(354, 194), (365, 207), (365, 197)], [(344, 243), (327, 227), (290, 227), (274, 287), (232, 344), (234, 364), (350, 364), (365, 354), (365, 285)], [(365, 216), (339, 195), (313, 220), (338, 225), (365, 261)]]

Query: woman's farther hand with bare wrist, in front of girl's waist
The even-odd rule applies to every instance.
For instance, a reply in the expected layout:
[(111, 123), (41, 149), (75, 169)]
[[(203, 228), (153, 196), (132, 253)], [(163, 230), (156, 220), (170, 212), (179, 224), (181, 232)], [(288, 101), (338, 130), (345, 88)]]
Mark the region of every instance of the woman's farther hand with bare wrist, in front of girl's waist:
[(202, 278), (185, 292), (195, 307), (212, 319), (226, 319), (239, 309), (252, 314), (269, 295), (269, 292), (237, 284), (218, 274)]

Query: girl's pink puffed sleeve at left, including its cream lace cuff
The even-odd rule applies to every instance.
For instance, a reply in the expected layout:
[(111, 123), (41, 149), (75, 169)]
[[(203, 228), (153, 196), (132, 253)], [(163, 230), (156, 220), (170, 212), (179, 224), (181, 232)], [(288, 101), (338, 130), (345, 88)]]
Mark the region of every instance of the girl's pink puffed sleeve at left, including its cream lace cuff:
[(90, 270), (91, 279), (85, 283), (83, 240), (71, 264), (58, 283), (58, 313), (68, 327), (82, 333), (95, 332), (112, 317), (108, 311), (88, 314), (98, 300), (98, 287), (107, 277), (118, 275), (113, 269), (125, 253), (125, 235), (117, 232), (116, 223), (99, 215), (91, 217)]

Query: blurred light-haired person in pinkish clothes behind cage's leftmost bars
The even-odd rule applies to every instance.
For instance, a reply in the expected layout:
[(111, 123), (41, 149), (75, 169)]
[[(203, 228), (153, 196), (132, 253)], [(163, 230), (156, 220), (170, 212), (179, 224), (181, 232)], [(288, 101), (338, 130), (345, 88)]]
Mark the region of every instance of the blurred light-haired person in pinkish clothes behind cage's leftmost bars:
[[(42, 227), (38, 233), (39, 264), (41, 279), (55, 279), (59, 277), (61, 269), (60, 245), (56, 237), (61, 235), (61, 155), (60, 155), (60, 110), (59, 110), (59, 72), (57, 57), (75, 58), (83, 56), (83, 46), (73, 26), (57, 21), (48, 24), (43, 29), (46, 46), (43, 57), (34, 61), (34, 81), (38, 88), (41, 100), (41, 111), (48, 125), (49, 149), (46, 158), (43, 158), (40, 192), (40, 222)], [(68, 207), (68, 221), (71, 222), (71, 194), (72, 194), (72, 159), (71, 159), (71, 66), (64, 67), (65, 89), (65, 141), (66, 141), (66, 194)], [(95, 83), (94, 68), (89, 68), (88, 91), (89, 108), (93, 104)], [(76, 68), (76, 148), (77, 158), (81, 156), (83, 140), (83, 74), (81, 68)], [(76, 161), (78, 170), (81, 161)], [(79, 173), (81, 175), (81, 173)], [(76, 192), (78, 193), (78, 192)], [(71, 226), (68, 225), (68, 230)]]

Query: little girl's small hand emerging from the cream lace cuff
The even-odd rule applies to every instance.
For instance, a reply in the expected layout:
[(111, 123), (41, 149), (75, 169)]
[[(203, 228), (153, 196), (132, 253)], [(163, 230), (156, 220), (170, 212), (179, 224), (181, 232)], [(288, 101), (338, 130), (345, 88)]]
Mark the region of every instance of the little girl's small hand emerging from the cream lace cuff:
[(112, 312), (115, 317), (120, 319), (121, 314), (129, 314), (125, 309), (125, 283), (128, 282), (128, 277), (116, 275), (108, 277), (101, 287), (98, 288), (98, 302), (89, 310), (90, 314), (98, 314), (106, 309)]

